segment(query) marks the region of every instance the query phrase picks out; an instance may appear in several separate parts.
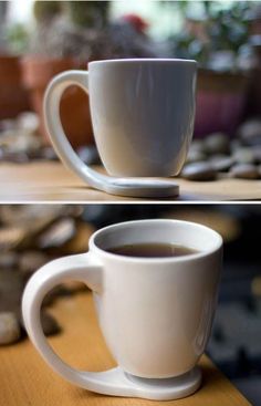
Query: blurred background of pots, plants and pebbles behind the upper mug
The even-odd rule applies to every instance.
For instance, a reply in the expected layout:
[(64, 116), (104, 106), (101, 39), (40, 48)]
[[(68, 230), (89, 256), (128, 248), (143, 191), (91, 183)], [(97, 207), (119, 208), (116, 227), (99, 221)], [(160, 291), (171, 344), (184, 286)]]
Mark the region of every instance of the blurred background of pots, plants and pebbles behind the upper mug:
[[(55, 159), (42, 119), (46, 84), (64, 70), (122, 58), (197, 60), (187, 163), (223, 171), (247, 164), (236, 177), (261, 177), (259, 1), (0, 1), (0, 160)], [(81, 90), (65, 92), (61, 116), (81, 158), (98, 163)]]

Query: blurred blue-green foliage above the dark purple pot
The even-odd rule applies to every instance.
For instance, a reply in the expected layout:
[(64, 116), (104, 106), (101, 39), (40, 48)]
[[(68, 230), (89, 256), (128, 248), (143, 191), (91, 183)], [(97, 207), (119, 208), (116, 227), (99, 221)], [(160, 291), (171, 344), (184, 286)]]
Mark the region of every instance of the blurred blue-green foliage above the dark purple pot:
[(163, 6), (179, 10), (185, 17), (184, 30), (173, 35), (171, 52), (177, 58), (196, 59), (208, 66), (217, 52), (226, 51), (237, 58), (242, 45), (248, 42), (250, 11), (255, 2), (233, 1), (225, 8), (221, 1), (201, 1), (201, 15), (194, 14), (190, 1), (164, 1)]

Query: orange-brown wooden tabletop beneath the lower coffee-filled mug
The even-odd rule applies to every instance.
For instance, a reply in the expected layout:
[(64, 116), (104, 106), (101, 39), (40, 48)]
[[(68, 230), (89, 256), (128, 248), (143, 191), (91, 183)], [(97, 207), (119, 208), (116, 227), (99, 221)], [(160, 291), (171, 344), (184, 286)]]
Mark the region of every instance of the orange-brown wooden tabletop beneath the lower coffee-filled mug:
[[(50, 339), (71, 365), (90, 371), (114, 366), (98, 330), (90, 293), (61, 299), (52, 309), (63, 333)], [(192, 396), (173, 402), (150, 402), (97, 395), (72, 386), (42, 361), (29, 340), (0, 347), (1, 406), (247, 406), (250, 403), (215, 367), (200, 361), (202, 387)]]

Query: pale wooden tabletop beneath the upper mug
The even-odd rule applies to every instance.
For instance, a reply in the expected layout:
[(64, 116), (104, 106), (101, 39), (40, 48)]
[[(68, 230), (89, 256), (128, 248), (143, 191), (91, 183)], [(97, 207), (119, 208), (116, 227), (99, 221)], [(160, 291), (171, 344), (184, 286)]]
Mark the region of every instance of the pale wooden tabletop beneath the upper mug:
[[(176, 200), (180, 201), (261, 200), (261, 180), (219, 179), (199, 183), (177, 179), (177, 183), (180, 186), (180, 196)], [(18, 201), (144, 202), (146, 200), (112, 196), (94, 190), (64, 168), (61, 163), (1, 164), (0, 202)]]

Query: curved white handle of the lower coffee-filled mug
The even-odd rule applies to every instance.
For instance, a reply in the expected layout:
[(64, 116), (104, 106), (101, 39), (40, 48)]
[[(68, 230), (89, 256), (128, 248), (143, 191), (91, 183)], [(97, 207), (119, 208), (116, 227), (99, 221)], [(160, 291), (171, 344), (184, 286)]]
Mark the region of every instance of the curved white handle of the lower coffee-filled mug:
[(69, 366), (49, 345), (41, 325), (40, 310), (44, 296), (55, 285), (76, 280), (102, 293), (103, 268), (91, 253), (64, 257), (42, 267), (29, 280), (22, 299), (22, 314), (28, 334), (45, 362), (63, 378), (82, 388), (105, 395), (135, 396), (132, 383), (119, 368), (83, 372)]

